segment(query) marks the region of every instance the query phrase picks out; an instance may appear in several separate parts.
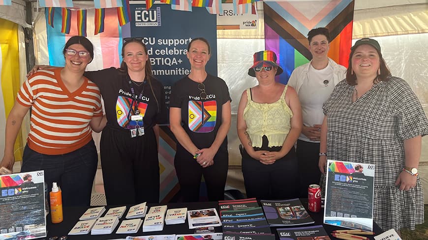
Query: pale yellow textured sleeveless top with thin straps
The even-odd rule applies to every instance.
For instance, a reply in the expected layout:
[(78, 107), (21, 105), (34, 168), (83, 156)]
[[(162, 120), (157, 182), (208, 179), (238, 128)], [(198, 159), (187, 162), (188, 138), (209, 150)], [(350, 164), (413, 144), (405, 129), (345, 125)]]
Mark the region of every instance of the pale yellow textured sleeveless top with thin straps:
[(278, 101), (271, 104), (255, 103), (251, 99), (250, 89), (246, 89), (247, 104), (244, 109), (244, 120), (252, 146), (261, 147), (262, 137), (266, 135), (269, 140), (268, 147), (282, 146), (290, 132), (290, 119), (293, 112), (285, 102), (285, 93), (288, 85)]

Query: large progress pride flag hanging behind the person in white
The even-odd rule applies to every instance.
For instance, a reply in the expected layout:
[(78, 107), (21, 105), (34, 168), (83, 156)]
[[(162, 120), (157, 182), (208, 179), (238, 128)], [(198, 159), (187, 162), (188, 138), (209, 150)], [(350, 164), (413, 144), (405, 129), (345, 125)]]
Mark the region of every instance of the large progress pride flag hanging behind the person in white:
[(284, 72), (276, 80), (287, 83), (293, 70), (309, 62), (307, 33), (312, 28), (327, 27), (332, 41), (328, 56), (348, 66), (352, 44), (354, 0), (264, 1), (265, 49), (272, 50)]

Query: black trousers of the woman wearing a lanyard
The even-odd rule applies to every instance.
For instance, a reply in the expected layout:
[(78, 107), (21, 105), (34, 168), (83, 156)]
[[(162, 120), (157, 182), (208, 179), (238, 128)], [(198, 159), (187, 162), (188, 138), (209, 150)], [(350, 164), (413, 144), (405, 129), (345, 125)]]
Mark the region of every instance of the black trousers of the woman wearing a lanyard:
[(159, 202), (159, 160), (152, 128), (131, 138), (129, 131), (106, 126), (100, 152), (108, 205)]

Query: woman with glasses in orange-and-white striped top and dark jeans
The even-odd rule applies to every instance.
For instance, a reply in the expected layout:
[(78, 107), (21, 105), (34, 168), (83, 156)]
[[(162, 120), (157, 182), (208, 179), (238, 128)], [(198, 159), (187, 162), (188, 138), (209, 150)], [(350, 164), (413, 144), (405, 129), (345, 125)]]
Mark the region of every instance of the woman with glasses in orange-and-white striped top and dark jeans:
[(14, 143), (31, 108), (21, 171), (44, 170), (49, 189), (52, 182), (61, 186), (64, 206), (89, 206), (97, 165), (92, 130), (100, 132), (106, 120), (98, 87), (83, 76), (93, 58), (92, 43), (85, 37), (71, 37), (63, 54), (65, 67), (39, 70), (18, 92), (6, 121), (0, 165), (12, 169)]

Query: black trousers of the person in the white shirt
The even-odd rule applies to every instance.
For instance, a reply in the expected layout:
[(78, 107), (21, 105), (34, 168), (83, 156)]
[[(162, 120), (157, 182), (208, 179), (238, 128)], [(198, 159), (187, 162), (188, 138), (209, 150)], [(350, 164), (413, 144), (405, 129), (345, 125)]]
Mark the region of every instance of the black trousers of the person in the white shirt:
[(299, 197), (307, 197), (307, 187), (318, 184), (321, 177), (318, 168), (319, 143), (297, 140), (296, 153), (299, 160)]

